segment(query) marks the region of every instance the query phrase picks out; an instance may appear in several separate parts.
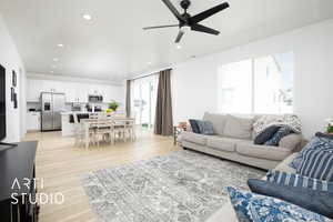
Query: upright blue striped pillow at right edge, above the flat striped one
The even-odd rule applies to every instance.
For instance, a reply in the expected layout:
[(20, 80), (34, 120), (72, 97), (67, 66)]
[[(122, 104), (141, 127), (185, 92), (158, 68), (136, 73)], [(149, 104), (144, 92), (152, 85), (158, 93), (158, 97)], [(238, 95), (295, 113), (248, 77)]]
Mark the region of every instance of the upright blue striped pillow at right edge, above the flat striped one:
[(304, 176), (333, 182), (333, 152), (305, 151), (296, 172)]

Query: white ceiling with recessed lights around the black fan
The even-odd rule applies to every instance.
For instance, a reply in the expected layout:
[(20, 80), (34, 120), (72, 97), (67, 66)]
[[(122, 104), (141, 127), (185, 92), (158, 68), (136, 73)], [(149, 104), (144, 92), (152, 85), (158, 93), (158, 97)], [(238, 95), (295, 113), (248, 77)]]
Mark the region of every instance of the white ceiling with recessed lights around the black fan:
[[(192, 0), (189, 12), (223, 1)], [(172, 2), (180, 10), (179, 0)], [(161, 0), (0, 0), (0, 13), (28, 72), (50, 73), (56, 64), (56, 74), (112, 81), (333, 18), (332, 0), (229, 3), (231, 8), (202, 22), (220, 30), (219, 37), (190, 32), (181, 49), (173, 43), (178, 28), (142, 30), (176, 23)], [(83, 20), (83, 13), (93, 20)]]

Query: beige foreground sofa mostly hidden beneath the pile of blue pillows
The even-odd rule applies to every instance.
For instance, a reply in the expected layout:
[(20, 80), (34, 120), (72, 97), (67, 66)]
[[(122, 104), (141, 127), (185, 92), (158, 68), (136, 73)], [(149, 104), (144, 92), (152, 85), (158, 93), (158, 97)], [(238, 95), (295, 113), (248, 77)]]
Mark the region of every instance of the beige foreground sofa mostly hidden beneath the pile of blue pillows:
[[(295, 158), (296, 153), (287, 157), (283, 162), (281, 162), (275, 170), (284, 172), (294, 172), (295, 170), (290, 168), (287, 164)], [(210, 216), (206, 222), (239, 222), (234, 210), (230, 202), (226, 202), (219, 211), (216, 211), (212, 216)]]

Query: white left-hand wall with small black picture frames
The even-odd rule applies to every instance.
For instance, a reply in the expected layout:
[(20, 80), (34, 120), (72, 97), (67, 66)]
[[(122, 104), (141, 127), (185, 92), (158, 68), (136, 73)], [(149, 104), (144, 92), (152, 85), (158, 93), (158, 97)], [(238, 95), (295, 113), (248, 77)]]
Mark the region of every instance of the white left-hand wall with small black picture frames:
[[(26, 71), (23, 68), (22, 60), (17, 50), (14, 42), (12, 41), (8, 29), (0, 14), (0, 63), (6, 68), (6, 111), (7, 111), (7, 138), (6, 142), (18, 142), (21, 140), (26, 132), (24, 123), (22, 121), (23, 111), (26, 111), (24, 104), (22, 103), (24, 88)], [(17, 88), (18, 93), (18, 109), (13, 109), (13, 102), (10, 101), (10, 88), (12, 82), (12, 70), (17, 72)], [(21, 70), (21, 72), (20, 72)]]

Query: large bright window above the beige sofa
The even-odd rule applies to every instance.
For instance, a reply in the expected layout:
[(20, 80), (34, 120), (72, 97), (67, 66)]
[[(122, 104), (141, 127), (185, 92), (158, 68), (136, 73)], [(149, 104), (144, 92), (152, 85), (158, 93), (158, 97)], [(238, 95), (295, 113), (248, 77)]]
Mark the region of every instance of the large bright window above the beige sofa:
[(219, 109), (224, 113), (292, 113), (293, 53), (224, 64), (219, 70)]

